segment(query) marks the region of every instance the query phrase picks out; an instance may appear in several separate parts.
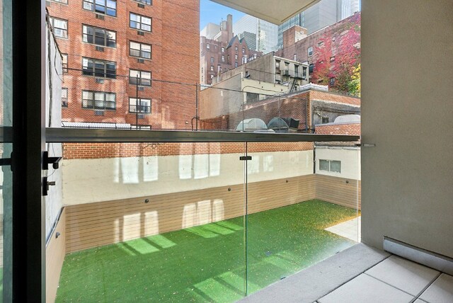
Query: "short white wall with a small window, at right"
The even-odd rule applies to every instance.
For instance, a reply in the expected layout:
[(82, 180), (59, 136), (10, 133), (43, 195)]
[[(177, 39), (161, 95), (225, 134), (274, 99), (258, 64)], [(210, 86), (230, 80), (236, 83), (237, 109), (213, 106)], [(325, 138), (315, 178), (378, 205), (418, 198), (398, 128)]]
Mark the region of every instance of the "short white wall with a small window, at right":
[[(316, 173), (320, 175), (333, 176), (360, 180), (360, 149), (356, 147), (316, 147)], [(321, 171), (319, 160), (341, 161), (341, 172)]]

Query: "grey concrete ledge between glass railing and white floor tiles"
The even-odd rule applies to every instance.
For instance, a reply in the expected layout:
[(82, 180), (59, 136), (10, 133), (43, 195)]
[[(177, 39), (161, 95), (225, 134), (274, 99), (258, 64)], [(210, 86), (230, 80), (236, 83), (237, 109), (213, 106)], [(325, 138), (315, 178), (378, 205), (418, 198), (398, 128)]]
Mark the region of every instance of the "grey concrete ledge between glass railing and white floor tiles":
[(239, 302), (312, 303), (389, 256), (385, 251), (357, 244)]

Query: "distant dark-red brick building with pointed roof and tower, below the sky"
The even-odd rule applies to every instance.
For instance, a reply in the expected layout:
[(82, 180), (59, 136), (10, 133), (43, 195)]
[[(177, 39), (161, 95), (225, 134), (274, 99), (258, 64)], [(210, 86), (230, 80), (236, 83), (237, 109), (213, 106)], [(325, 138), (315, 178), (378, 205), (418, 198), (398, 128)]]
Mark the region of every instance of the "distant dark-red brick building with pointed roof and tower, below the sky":
[(214, 77), (262, 55), (250, 50), (246, 39), (233, 33), (233, 16), (220, 23), (212, 39), (200, 37), (200, 84), (212, 84)]

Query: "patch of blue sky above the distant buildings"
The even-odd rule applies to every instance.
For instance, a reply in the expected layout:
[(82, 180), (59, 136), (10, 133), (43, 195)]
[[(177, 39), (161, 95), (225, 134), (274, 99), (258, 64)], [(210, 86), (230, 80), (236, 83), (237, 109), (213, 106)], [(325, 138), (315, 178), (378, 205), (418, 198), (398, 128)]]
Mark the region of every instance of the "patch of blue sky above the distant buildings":
[(217, 4), (210, 0), (200, 1), (200, 30), (202, 30), (207, 23), (219, 24), (220, 21), (226, 20), (226, 15), (231, 13), (233, 15), (233, 23), (238, 21), (245, 13), (236, 11), (232, 8)]

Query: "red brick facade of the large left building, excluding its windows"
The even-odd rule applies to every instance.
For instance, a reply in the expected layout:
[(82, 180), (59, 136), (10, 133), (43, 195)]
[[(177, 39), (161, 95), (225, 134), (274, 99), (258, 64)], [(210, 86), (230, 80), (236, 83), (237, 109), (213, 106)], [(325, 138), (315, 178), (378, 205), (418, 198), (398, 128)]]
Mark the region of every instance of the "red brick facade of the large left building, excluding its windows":
[[(69, 72), (64, 74), (63, 87), (68, 88), (68, 108), (62, 109), (62, 120), (71, 122), (119, 122), (136, 124), (136, 114), (129, 113), (129, 97), (136, 96), (136, 86), (129, 84), (129, 69), (151, 72), (156, 81), (152, 87), (144, 86), (139, 98), (151, 98), (151, 114), (139, 119), (140, 125), (153, 129), (184, 128), (185, 120), (195, 115), (195, 87), (165, 84), (163, 81), (196, 84), (199, 79), (198, 21), (199, 1), (153, 1), (152, 6), (139, 8), (136, 1), (117, 1), (117, 16), (96, 18), (93, 11), (82, 8), (82, 0), (70, 0), (69, 5), (50, 2), (50, 16), (68, 20), (68, 39), (57, 38), (62, 53), (68, 55)], [(152, 18), (152, 32), (137, 35), (129, 27), (130, 12)], [(181, 18), (184, 16), (184, 18)], [(116, 48), (96, 46), (82, 42), (82, 24), (93, 25), (116, 32)], [(138, 63), (129, 56), (129, 42), (152, 45), (151, 59)], [(96, 84), (93, 76), (81, 76), (82, 57), (104, 59), (117, 64), (117, 79), (105, 79)], [(188, 68), (190, 67), (190, 68)], [(76, 69), (71, 71), (71, 69)], [(116, 110), (105, 110), (103, 116), (94, 110), (81, 107), (81, 91), (108, 91), (116, 93)]]

